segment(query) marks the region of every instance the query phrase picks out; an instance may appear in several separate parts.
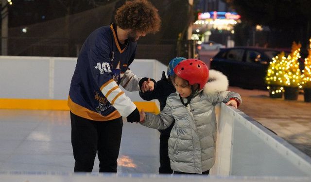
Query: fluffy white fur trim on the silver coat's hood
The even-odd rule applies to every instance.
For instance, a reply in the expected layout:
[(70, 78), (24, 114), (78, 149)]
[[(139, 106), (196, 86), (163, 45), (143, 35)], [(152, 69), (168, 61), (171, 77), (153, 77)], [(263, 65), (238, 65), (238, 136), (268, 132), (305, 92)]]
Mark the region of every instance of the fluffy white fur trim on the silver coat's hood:
[(226, 91), (228, 89), (228, 86), (229, 81), (222, 72), (210, 69), (209, 78), (203, 88), (203, 91), (206, 94), (212, 94), (215, 92)]

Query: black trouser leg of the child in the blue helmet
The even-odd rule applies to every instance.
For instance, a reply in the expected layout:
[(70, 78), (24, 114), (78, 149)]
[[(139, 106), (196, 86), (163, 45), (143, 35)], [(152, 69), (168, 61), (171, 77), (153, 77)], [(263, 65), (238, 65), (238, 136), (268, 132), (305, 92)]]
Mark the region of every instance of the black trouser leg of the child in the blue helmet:
[(168, 140), (170, 134), (160, 134), (160, 174), (172, 174), (173, 170), (171, 169), (171, 162), (169, 158), (169, 146)]

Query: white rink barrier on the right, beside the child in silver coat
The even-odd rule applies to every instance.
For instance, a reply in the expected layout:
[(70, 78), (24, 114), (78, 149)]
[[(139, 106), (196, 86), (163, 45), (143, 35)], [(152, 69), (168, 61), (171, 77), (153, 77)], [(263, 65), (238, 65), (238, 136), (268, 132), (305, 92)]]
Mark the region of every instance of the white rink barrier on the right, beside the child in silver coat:
[(238, 109), (218, 104), (217, 176), (311, 176), (311, 158)]

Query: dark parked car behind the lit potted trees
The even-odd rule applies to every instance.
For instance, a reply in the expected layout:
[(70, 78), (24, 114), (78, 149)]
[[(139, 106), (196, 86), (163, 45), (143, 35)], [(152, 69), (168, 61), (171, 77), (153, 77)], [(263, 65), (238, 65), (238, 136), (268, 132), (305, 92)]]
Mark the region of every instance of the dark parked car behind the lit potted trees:
[(210, 69), (223, 72), (228, 77), (230, 86), (264, 90), (267, 88), (264, 78), (269, 62), (280, 52), (281, 50), (258, 47), (221, 49), (211, 59)]

